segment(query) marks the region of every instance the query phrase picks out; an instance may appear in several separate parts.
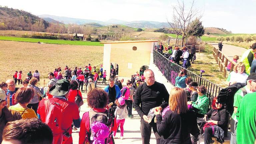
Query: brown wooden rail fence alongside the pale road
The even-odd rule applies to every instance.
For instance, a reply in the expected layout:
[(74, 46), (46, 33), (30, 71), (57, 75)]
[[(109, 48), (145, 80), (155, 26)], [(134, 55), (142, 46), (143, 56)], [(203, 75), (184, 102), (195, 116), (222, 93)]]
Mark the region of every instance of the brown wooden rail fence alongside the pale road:
[(230, 72), (233, 71), (234, 66), (236, 65), (236, 62), (233, 61), (233, 59), (230, 59), (227, 55), (222, 53), (218, 48), (213, 49), (213, 57), (216, 60), (220, 71), (224, 71), (224, 77), (226, 77), (227, 74), (227, 66), (228, 62), (231, 62)]

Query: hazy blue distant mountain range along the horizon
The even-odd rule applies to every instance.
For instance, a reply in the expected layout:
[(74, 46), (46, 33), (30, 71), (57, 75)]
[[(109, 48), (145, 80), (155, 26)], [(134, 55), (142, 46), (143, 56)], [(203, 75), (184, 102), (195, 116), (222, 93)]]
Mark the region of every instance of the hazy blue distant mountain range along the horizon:
[(170, 27), (169, 23), (167, 22), (156, 22), (156, 21), (123, 21), (118, 19), (110, 19), (107, 21), (97, 21), (97, 20), (90, 20), (90, 19), (78, 19), (78, 18), (70, 18), (70, 17), (61, 17), (61, 16), (53, 16), (53, 15), (38, 15), (39, 17), (43, 18), (45, 21), (51, 22), (53, 20), (58, 22), (63, 22), (64, 24), (87, 24), (87, 23), (94, 23), (100, 25), (112, 25), (112, 24), (122, 24), (134, 28), (163, 28), (163, 27)]

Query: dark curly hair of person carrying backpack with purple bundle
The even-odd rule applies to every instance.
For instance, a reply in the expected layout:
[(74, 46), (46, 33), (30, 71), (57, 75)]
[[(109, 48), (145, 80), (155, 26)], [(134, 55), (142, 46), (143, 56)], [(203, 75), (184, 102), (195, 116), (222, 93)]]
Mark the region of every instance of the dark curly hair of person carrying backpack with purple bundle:
[(87, 103), (91, 108), (104, 108), (108, 103), (108, 94), (102, 89), (93, 89), (87, 94)]

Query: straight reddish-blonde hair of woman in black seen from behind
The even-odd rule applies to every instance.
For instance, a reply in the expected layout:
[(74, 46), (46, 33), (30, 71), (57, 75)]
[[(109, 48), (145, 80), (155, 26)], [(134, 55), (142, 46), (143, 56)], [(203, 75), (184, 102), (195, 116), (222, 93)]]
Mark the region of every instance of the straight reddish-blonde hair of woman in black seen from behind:
[(188, 111), (187, 94), (182, 88), (176, 87), (171, 90), (169, 106), (170, 110), (177, 114), (186, 113)]

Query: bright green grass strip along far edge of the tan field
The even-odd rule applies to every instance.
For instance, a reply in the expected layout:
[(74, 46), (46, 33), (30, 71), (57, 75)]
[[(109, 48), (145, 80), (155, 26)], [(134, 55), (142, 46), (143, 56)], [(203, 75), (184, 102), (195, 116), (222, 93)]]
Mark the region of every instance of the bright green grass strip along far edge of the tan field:
[(20, 42), (33, 42), (33, 43), (36, 43), (36, 42), (40, 41), (42, 43), (48, 43), (48, 44), (104, 46), (104, 44), (100, 44), (100, 42), (34, 39), (34, 38), (6, 37), (6, 36), (0, 36), (0, 40), (20, 41)]

